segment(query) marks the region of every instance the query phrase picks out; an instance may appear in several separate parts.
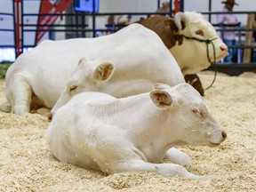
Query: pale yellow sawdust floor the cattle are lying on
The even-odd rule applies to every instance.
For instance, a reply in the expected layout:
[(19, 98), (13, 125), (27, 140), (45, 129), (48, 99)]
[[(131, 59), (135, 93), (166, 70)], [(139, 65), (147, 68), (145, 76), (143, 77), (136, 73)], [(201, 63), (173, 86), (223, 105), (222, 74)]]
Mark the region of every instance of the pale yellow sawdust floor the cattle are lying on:
[[(199, 74), (204, 86), (213, 72)], [(47, 110), (20, 117), (0, 112), (0, 191), (256, 191), (256, 74), (218, 73), (204, 102), (228, 132), (217, 148), (182, 147), (191, 156), (187, 167), (211, 180), (164, 178), (156, 173), (124, 172), (106, 176), (57, 161), (44, 139)], [(4, 102), (0, 82), (0, 103)]]

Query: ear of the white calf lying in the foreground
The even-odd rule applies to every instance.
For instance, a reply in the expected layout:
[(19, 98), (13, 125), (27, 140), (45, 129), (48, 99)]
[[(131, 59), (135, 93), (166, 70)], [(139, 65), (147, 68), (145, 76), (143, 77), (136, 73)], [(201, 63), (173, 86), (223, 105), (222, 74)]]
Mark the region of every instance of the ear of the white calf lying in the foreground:
[(168, 108), (172, 105), (172, 96), (163, 90), (150, 92), (150, 98), (158, 108)]

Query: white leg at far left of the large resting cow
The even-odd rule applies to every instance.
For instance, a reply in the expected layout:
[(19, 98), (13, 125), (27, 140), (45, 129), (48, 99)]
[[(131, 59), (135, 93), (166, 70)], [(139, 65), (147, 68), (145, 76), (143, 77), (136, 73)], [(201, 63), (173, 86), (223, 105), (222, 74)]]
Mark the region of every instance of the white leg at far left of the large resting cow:
[(31, 97), (32, 90), (26, 77), (13, 76), (12, 87), (7, 92), (7, 98), (12, 105), (12, 113), (26, 116), (30, 110)]

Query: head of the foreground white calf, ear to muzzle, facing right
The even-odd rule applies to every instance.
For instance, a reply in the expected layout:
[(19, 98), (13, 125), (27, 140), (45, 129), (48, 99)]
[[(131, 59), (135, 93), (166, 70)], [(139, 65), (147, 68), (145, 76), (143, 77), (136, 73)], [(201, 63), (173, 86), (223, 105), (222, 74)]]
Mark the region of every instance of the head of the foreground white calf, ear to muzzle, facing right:
[[(150, 92), (156, 107), (164, 110), (161, 118), (167, 119), (166, 137), (172, 138), (176, 145), (200, 145), (216, 147), (226, 139), (227, 134), (212, 118), (202, 97), (189, 84), (170, 87), (156, 84)], [(169, 122), (168, 122), (169, 121)], [(170, 124), (172, 125), (171, 127)]]

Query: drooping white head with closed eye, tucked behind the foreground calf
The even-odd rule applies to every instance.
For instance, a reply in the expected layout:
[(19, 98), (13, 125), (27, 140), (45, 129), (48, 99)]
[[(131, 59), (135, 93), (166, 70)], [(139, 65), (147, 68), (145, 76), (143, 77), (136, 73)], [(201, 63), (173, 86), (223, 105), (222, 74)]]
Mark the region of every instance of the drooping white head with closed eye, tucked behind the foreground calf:
[(52, 108), (48, 119), (52, 120), (52, 116), (55, 114), (56, 110), (65, 105), (74, 95), (80, 92), (97, 92), (100, 84), (108, 81), (114, 71), (114, 65), (108, 61), (88, 61), (85, 60), (85, 58), (81, 58), (75, 73), (68, 80), (66, 88)]

